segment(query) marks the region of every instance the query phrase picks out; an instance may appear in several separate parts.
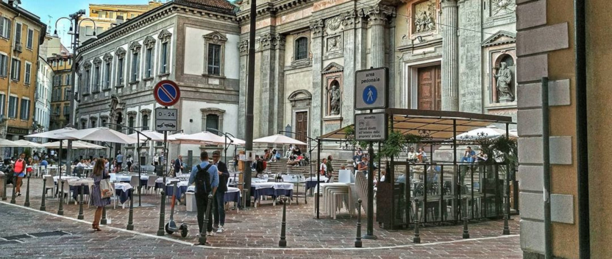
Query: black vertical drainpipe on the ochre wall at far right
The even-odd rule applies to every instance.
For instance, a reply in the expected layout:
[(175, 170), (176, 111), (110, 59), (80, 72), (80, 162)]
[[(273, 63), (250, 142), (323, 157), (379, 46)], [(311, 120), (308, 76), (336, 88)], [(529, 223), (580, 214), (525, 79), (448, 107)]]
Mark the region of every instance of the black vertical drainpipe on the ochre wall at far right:
[(576, 153), (578, 174), (578, 249), (580, 258), (591, 258), (589, 226), (589, 149), (586, 100), (586, 19), (584, 0), (574, 0), (576, 59)]

